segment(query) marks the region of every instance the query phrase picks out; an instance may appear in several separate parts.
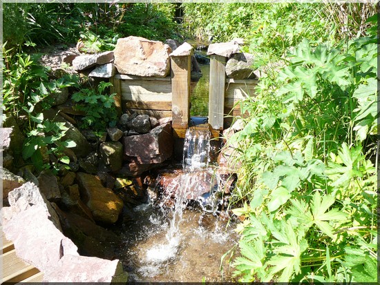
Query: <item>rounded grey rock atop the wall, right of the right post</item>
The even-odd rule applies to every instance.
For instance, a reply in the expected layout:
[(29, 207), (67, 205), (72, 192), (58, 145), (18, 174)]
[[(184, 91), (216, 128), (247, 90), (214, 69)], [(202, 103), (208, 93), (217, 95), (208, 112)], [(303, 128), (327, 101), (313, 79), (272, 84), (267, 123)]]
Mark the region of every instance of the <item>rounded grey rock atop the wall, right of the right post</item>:
[(226, 63), (226, 74), (234, 79), (251, 79), (254, 75), (254, 56), (247, 53), (236, 53)]

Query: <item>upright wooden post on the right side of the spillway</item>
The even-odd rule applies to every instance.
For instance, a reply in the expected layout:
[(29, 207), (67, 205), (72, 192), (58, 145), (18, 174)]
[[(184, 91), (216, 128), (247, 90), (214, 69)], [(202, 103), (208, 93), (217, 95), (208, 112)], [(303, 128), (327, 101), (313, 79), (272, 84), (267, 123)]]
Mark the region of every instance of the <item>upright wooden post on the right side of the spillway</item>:
[(227, 57), (210, 57), (209, 124), (214, 130), (222, 130), (225, 108), (225, 81)]

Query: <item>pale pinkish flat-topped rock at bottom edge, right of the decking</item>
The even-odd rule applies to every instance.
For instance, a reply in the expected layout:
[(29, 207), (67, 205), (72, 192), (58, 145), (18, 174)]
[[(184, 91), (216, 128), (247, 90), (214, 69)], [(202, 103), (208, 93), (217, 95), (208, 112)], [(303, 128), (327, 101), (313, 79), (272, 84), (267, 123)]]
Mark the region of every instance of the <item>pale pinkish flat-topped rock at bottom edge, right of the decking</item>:
[(55, 268), (44, 273), (48, 282), (122, 282), (125, 283), (128, 274), (122, 270), (119, 260), (113, 261), (98, 257), (64, 255)]

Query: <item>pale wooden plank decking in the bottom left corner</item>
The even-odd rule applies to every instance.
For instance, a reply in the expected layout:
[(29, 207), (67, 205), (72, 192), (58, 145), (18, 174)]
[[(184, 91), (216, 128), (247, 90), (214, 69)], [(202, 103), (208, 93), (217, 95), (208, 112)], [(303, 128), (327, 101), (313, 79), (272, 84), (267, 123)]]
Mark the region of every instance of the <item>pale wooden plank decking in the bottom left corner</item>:
[(17, 284), (23, 282), (42, 282), (42, 273), (34, 266), (23, 262), (16, 255), (15, 246), (12, 242), (4, 237), (3, 231), (0, 231), (3, 239), (3, 250), (1, 253), (2, 271), (1, 283)]

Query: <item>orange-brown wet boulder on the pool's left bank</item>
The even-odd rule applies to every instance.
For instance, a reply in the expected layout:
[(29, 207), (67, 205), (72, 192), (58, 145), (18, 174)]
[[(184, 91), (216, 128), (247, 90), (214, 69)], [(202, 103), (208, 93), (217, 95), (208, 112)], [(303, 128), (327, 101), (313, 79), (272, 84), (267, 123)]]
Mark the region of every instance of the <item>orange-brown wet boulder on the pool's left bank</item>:
[(114, 224), (122, 212), (123, 202), (110, 188), (102, 186), (98, 177), (77, 173), (82, 201), (90, 208), (95, 221)]

